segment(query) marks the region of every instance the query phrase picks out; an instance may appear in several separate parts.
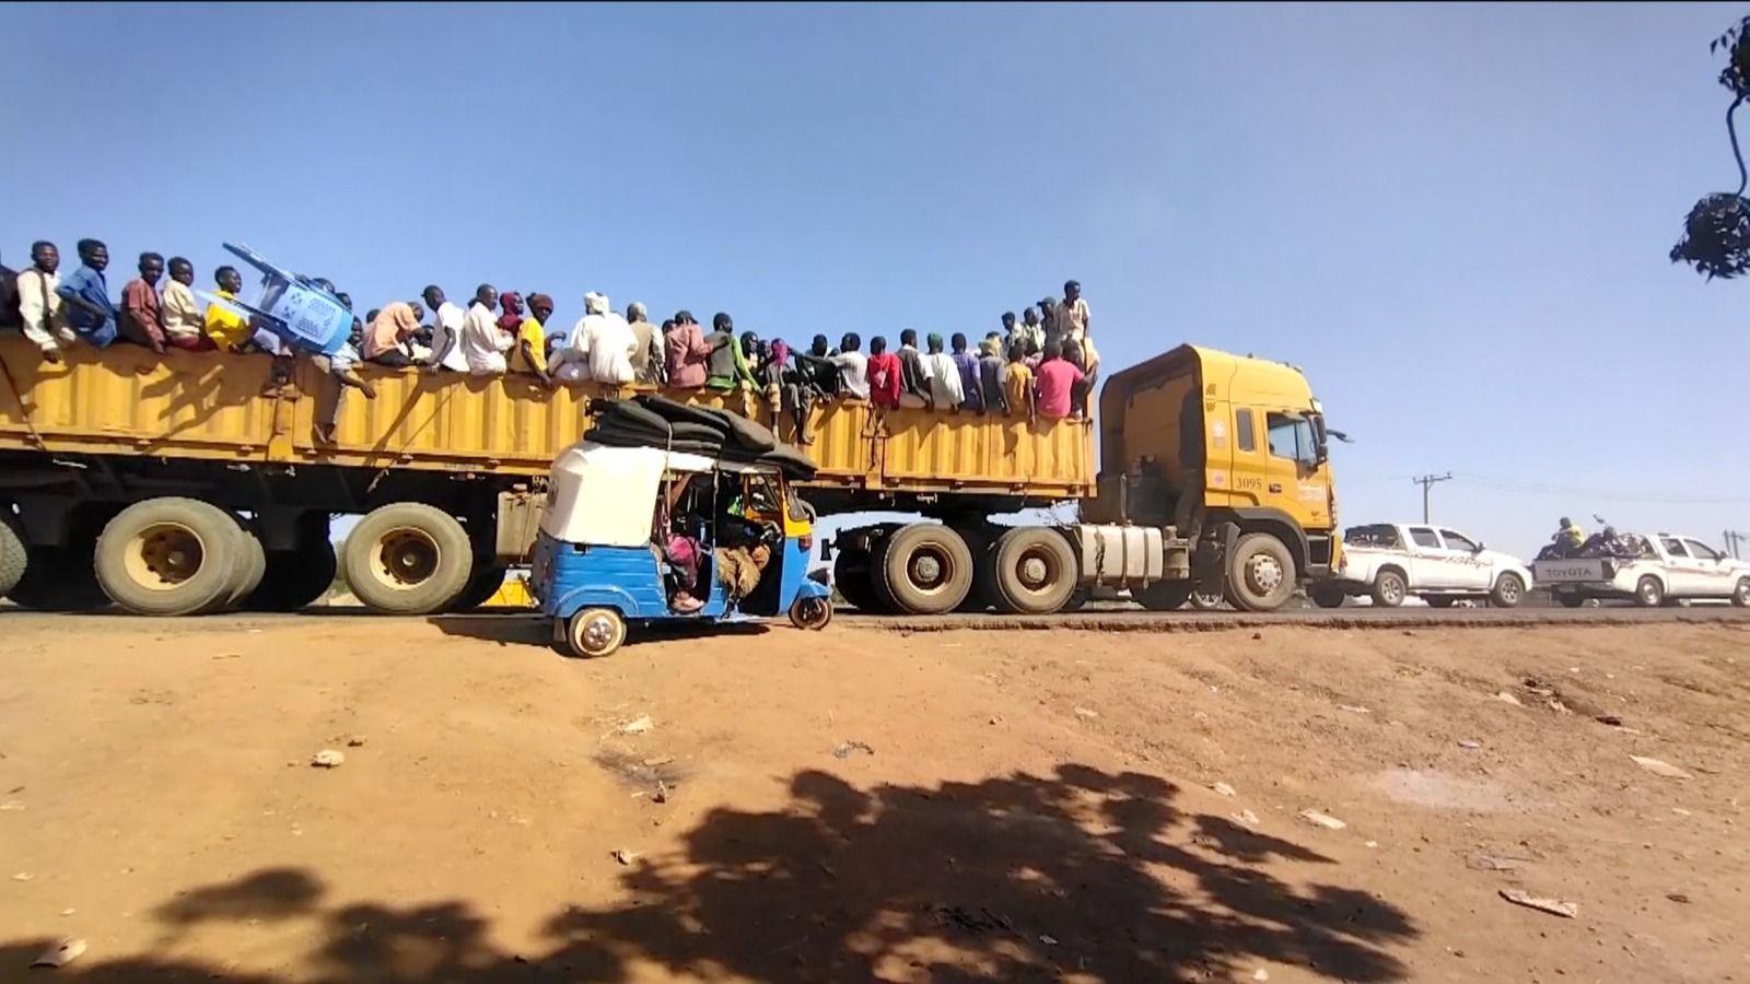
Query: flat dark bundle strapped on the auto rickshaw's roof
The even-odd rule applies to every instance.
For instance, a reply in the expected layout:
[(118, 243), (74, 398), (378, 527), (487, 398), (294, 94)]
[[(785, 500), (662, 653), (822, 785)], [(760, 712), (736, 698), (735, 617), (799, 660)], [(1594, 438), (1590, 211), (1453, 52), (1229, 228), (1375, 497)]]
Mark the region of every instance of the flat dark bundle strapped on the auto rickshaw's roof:
[(794, 480), (814, 478), (816, 466), (807, 453), (779, 441), (765, 424), (724, 410), (639, 394), (593, 401), (590, 411), (595, 425), (584, 439), (597, 445), (688, 452), (772, 466)]

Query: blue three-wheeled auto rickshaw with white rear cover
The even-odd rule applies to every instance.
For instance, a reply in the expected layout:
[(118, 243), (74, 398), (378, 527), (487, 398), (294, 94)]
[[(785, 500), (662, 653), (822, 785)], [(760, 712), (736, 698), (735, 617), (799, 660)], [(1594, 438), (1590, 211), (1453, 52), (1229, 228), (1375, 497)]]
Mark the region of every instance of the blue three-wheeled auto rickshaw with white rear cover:
[[(693, 569), (676, 562), (672, 538)], [(654, 623), (788, 613), (798, 629), (824, 629), (831, 587), (824, 569), (808, 571), (812, 548), (814, 513), (777, 467), (583, 441), (553, 462), (528, 585), (553, 641), (578, 657), (606, 657), (628, 627)]]

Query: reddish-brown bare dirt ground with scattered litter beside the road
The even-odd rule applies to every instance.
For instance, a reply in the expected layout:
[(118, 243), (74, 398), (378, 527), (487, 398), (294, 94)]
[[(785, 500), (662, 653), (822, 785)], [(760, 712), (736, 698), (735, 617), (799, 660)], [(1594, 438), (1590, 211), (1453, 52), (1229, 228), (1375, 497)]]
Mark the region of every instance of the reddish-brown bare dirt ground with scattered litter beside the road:
[(541, 637), (0, 615), (0, 980), (1746, 975), (1750, 623)]

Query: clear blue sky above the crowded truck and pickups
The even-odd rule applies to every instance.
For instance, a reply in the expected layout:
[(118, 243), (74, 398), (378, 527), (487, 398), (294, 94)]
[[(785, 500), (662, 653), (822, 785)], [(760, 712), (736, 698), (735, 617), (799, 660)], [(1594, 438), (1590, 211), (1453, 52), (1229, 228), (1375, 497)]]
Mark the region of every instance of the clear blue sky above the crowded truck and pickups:
[(488, 280), (786, 338), (982, 333), (1074, 277), (1110, 368), (1306, 368), (1349, 524), (1451, 469), (1437, 518), (1496, 546), (1717, 541), (1750, 284), (1666, 250), (1736, 179), (1743, 12), (9, 5), (0, 252), (205, 284), (242, 240), (360, 310)]

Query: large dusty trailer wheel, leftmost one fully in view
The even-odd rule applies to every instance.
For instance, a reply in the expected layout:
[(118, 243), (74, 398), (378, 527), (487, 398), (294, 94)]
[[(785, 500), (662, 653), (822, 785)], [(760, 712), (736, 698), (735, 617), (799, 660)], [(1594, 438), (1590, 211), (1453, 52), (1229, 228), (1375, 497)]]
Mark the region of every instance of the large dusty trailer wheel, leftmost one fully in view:
[(136, 615), (224, 606), (247, 567), (236, 520), (200, 499), (163, 496), (116, 513), (98, 536), (98, 583)]

